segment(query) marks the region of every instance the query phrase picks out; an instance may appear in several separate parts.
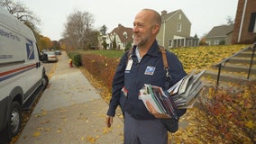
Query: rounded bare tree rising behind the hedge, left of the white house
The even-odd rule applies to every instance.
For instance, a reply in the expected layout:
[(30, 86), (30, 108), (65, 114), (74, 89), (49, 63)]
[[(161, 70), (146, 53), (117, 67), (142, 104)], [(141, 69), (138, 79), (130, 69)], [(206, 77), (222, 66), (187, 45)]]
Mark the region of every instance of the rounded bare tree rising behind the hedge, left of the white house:
[(75, 11), (68, 17), (65, 23), (65, 30), (62, 33), (65, 41), (69, 41), (69, 45), (76, 49), (88, 49), (91, 34), (95, 34), (92, 30), (94, 23), (93, 15), (87, 12)]

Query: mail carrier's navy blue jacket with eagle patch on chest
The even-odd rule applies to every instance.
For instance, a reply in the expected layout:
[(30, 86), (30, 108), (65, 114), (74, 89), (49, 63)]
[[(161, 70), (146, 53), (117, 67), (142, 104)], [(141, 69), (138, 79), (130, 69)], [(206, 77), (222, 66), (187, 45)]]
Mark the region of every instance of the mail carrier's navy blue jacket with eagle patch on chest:
[[(133, 66), (131, 70), (125, 70), (128, 61), (128, 51), (124, 53), (116, 69), (112, 84), (112, 98), (109, 103), (107, 115), (114, 116), (115, 109), (120, 104), (122, 111), (128, 112), (135, 119), (155, 119), (148, 112), (142, 100), (138, 99), (142, 86), (144, 84), (158, 85), (164, 90), (167, 90), (169, 86), (174, 85), (187, 74), (177, 56), (167, 50), (169, 75), (171, 76), (171, 83), (169, 84), (169, 81), (166, 80), (166, 70), (164, 70), (162, 54), (156, 40), (147, 54), (143, 56), (141, 62), (138, 62), (135, 49), (136, 46), (133, 46), (131, 55)], [(123, 94), (123, 87), (127, 90), (127, 94)]]

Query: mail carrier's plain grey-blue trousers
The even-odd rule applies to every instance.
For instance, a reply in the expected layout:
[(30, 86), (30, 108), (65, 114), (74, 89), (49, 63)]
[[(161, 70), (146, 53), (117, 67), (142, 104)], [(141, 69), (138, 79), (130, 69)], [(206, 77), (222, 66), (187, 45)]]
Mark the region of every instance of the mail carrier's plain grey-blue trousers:
[(124, 144), (167, 144), (168, 132), (159, 120), (136, 120), (124, 113)]

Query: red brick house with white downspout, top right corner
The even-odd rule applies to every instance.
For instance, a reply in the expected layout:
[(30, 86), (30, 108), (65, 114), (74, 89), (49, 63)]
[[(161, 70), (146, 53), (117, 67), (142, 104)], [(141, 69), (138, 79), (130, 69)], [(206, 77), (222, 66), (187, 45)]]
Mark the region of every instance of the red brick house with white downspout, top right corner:
[(232, 44), (256, 41), (256, 0), (239, 0), (233, 26)]

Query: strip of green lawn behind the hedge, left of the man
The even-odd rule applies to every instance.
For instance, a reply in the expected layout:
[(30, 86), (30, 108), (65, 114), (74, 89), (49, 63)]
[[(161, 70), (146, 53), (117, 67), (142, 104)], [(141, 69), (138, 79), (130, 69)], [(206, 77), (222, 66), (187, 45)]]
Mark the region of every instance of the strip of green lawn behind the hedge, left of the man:
[(87, 51), (84, 51), (83, 53), (99, 54), (107, 58), (121, 58), (124, 54), (124, 51), (122, 50), (87, 50)]

